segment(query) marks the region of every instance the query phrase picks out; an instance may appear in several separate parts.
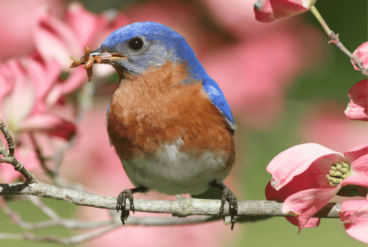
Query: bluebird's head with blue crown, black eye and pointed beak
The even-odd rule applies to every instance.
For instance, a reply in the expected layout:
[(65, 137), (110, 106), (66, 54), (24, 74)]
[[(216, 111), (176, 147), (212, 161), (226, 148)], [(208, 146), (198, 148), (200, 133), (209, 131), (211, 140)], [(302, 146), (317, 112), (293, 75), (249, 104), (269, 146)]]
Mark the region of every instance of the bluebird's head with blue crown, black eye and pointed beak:
[(133, 23), (113, 31), (91, 55), (102, 55), (103, 63), (134, 74), (171, 61), (186, 63), (193, 79), (202, 81), (207, 77), (184, 37), (170, 27), (155, 22)]

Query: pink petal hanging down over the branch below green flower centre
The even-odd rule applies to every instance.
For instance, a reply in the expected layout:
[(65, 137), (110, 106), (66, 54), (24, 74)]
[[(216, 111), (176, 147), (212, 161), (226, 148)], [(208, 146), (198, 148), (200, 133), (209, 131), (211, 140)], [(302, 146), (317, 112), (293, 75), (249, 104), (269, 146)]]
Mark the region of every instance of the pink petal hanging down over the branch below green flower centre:
[(308, 220), (326, 205), (340, 188), (338, 186), (331, 189), (311, 189), (292, 194), (284, 201), (282, 212), (296, 217), (300, 232)]

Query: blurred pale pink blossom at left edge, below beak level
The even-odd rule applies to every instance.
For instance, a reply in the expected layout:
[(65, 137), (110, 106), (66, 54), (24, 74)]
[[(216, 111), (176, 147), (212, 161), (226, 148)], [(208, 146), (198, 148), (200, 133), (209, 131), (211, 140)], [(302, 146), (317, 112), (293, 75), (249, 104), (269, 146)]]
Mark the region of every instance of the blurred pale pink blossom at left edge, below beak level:
[(47, 112), (45, 103), (60, 70), (54, 60), (44, 64), (31, 58), (9, 60), (0, 66), (0, 118), (12, 133), (43, 131), (70, 139), (76, 127)]

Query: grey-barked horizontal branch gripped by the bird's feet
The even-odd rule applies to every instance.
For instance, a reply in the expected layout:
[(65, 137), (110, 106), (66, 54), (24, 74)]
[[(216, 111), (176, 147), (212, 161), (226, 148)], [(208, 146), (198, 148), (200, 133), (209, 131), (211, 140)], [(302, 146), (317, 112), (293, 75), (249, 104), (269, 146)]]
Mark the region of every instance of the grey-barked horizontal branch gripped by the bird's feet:
[[(44, 184), (39, 181), (32, 184), (0, 184), (0, 195), (15, 194), (36, 195), (39, 197), (67, 201), (76, 205), (116, 210), (116, 197), (79, 192)], [(174, 201), (134, 199), (134, 208), (135, 211), (169, 213), (177, 217), (186, 217), (191, 215), (217, 216), (221, 204), (220, 200), (194, 199), (183, 196), (177, 196), (177, 198), (178, 199)], [(291, 216), (282, 213), (281, 207), (282, 202), (276, 201), (238, 201), (238, 216)], [(319, 212), (317, 212), (314, 217), (339, 218), (339, 214), (336, 209), (340, 207), (341, 203), (328, 203)], [(130, 208), (128, 200), (127, 208)], [(225, 207), (224, 215), (229, 215), (228, 207)]]

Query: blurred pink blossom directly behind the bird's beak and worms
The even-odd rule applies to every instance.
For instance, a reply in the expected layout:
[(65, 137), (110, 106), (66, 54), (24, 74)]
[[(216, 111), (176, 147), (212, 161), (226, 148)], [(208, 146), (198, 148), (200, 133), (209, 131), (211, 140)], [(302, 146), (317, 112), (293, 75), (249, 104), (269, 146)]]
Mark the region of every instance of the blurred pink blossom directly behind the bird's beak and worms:
[[(68, 5), (65, 21), (46, 10), (40, 10), (37, 14), (37, 22), (33, 25), (36, 50), (44, 59), (55, 59), (64, 72), (70, 73), (66, 81), (53, 87), (47, 100), (50, 104), (86, 82), (86, 72), (82, 67), (73, 70), (69, 68), (72, 63), (70, 56), (82, 56), (85, 46), (91, 48), (100, 46), (109, 33), (128, 24), (122, 13), (113, 17), (105, 13), (96, 15), (88, 12), (77, 2)], [(113, 68), (99, 70), (96, 66), (94, 75), (107, 76), (113, 71)]]

